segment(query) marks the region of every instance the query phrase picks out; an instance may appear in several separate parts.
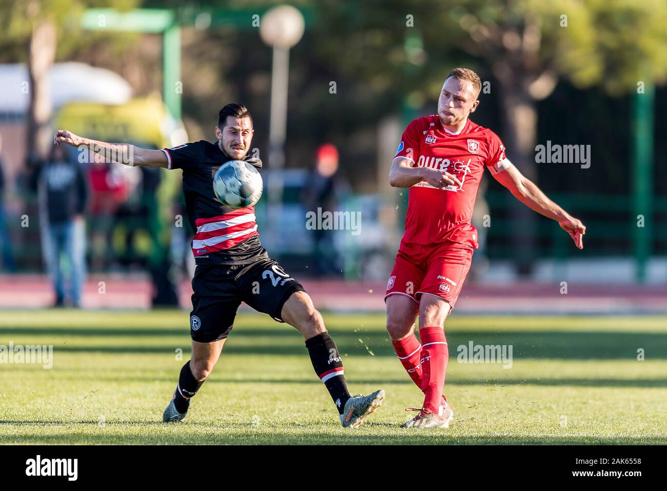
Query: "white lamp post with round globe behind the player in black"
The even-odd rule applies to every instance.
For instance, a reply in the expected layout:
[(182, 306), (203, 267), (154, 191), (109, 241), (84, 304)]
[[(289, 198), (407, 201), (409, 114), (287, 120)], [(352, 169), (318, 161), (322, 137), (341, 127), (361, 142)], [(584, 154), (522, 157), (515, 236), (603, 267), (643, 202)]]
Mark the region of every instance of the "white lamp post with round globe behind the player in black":
[(259, 24), (259, 35), (273, 47), (271, 72), (271, 116), (269, 122), (269, 180), (268, 212), (271, 232), (277, 227), (283, 198), (283, 177), (280, 170), (285, 164), (285, 133), (287, 127), (287, 79), (289, 48), (303, 36), (303, 15), (290, 5), (280, 5), (267, 11)]

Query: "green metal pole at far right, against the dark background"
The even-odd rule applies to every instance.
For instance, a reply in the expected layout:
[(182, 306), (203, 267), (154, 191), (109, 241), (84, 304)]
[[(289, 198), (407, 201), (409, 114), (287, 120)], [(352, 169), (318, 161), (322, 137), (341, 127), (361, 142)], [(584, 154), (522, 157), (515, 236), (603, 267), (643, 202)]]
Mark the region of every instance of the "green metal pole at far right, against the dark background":
[(651, 257), (653, 239), (653, 85), (647, 82), (644, 86), (644, 94), (635, 94), (633, 102), (632, 225), (634, 227), (635, 279), (638, 283), (644, 283), (646, 263)]

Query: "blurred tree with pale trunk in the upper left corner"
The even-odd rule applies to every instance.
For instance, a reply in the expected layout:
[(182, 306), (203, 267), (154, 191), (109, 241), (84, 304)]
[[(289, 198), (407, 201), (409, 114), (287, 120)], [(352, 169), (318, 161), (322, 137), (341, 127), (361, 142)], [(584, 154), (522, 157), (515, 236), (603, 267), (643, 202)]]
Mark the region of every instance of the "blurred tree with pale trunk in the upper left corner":
[[(117, 0), (115, 8), (134, 7), (135, 0)], [(87, 42), (79, 18), (86, 7), (105, 5), (102, 0), (15, 0), (0, 3), (0, 61), (27, 62), (29, 109), (27, 114), (27, 160), (43, 156), (49, 141), (47, 122), (51, 99), (47, 75), (57, 54), (65, 56)]]

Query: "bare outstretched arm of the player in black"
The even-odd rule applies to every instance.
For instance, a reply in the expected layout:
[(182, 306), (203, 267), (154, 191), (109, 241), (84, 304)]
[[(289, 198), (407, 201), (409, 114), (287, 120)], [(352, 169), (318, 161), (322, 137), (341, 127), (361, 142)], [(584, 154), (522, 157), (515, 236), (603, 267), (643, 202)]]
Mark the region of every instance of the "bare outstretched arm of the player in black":
[(85, 146), (96, 154), (126, 166), (167, 167), (167, 156), (162, 150), (148, 150), (127, 143), (99, 142), (67, 130), (58, 130), (53, 136), (54, 145), (61, 143), (75, 147)]

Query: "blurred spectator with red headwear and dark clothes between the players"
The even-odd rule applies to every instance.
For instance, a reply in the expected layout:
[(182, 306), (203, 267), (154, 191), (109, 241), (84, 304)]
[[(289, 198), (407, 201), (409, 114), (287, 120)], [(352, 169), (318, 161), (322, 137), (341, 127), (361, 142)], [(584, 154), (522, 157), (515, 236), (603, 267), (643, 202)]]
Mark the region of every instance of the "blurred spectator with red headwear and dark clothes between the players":
[[(338, 208), (340, 196), (349, 190), (347, 182), (338, 173), (338, 150), (332, 144), (317, 149), (315, 167), (309, 174), (303, 193), (307, 211), (333, 212)], [(319, 213), (318, 213), (319, 215)], [(315, 238), (315, 275), (340, 275), (338, 251), (333, 244), (333, 232), (320, 227), (313, 231)]]

